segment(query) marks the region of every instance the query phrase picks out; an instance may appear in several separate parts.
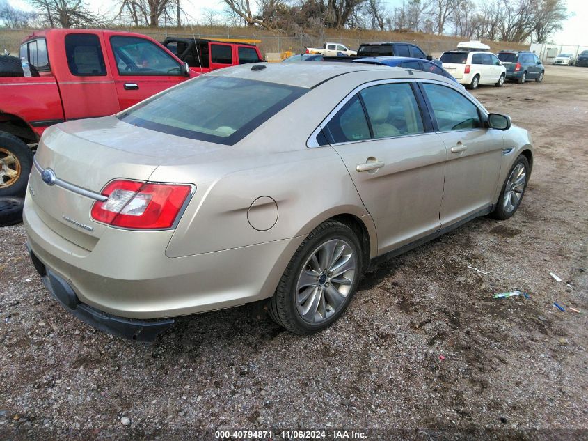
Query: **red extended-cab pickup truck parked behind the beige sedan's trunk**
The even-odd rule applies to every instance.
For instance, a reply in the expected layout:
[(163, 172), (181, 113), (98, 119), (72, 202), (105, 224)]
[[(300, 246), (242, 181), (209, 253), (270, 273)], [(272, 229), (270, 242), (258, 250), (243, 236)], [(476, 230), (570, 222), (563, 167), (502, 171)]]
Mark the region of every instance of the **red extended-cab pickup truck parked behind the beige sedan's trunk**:
[(30, 145), (49, 125), (115, 114), (199, 75), (152, 38), (120, 31), (35, 31), (19, 56), (39, 76), (0, 78), (0, 196), (24, 194)]

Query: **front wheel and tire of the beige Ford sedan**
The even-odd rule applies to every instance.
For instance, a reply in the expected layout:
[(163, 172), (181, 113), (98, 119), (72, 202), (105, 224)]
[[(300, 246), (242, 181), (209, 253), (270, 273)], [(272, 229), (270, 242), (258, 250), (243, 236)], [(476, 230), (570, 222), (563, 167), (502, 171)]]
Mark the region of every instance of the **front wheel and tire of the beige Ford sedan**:
[(498, 196), (492, 217), (504, 220), (514, 215), (525, 196), (529, 173), (529, 161), (524, 155), (519, 155), (502, 185), (502, 192)]

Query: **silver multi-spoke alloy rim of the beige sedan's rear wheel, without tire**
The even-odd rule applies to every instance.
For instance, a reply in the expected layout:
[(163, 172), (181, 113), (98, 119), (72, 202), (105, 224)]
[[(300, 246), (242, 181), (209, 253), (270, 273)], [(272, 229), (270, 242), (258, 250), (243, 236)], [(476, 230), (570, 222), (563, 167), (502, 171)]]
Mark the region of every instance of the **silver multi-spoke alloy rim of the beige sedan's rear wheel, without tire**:
[(303, 320), (321, 323), (344, 304), (358, 273), (357, 259), (349, 243), (324, 242), (306, 261), (296, 284), (296, 309)]

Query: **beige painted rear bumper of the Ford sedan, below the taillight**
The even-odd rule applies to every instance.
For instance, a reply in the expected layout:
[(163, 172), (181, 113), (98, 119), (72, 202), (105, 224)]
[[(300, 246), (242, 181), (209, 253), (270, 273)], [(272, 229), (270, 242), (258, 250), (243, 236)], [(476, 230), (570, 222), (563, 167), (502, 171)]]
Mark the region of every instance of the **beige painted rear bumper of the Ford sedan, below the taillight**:
[(23, 220), (35, 256), (66, 281), (79, 302), (100, 314), (131, 321), (196, 314), (271, 297), (304, 240), (299, 236), (170, 258), (165, 249), (171, 231), (109, 229), (91, 251), (80, 251), (45, 224), (38, 210), (27, 195)]

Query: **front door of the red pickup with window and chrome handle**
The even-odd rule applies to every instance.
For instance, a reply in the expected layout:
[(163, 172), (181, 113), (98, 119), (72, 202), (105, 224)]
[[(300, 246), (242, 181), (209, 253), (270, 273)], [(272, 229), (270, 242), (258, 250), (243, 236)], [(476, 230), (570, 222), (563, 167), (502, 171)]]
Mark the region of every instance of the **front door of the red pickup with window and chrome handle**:
[(116, 32), (104, 39), (121, 110), (186, 80), (180, 61), (153, 40)]

